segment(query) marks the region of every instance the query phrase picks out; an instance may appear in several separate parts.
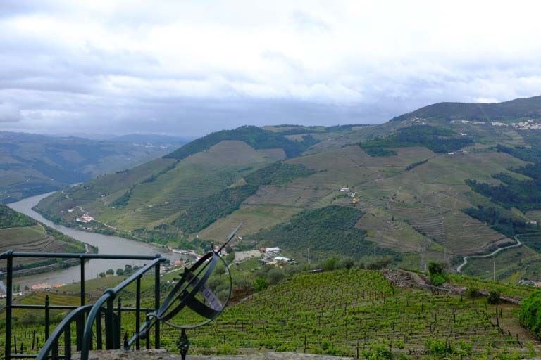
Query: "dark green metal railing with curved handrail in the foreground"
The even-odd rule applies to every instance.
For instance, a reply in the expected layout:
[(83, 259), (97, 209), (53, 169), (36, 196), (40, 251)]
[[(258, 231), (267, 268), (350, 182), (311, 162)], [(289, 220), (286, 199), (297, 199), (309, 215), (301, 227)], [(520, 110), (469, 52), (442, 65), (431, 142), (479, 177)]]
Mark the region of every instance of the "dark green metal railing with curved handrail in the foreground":
[[(51, 305), (49, 297), (46, 297), (45, 304), (13, 304), (13, 259), (18, 257), (32, 258), (54, 258), (54, 259), (80, 259), (80, 306)], [(101, 315), (105, 314), (105, 345), (106, 349), (120, 349), (121, 319), (123, 311), (135, 311), (135, 332), (139, 331), (140, 314), (149, 314), (157, 311), (160, 307), (160, 265), (166, 261), (161, 255), (101, 255), (101, 254), (76, 254), (76, 253), (49, 253), (49, 252), (16, 252), (8, 250), (0, 255), (0, 260), (6, 259), (6, 332), (5, 332), (5, 359), (71, 359), (71, 325), (75, 322), (75, 344), (77, 350), (81, 350), (81, 359), (88, 359), (89, 350), (92, 349), (92, 327), (96, 327), (96, 348), (102, 349)], [(134, 274), (126, 278), (115, 288), (108, 289), (104, 295), (94, 304), (85, 304), (85, 261), (88, 259), (117, 259), (117, 260), (149, 260), (149, 264), (138, 269)], [(141, 307), (141, 278), (148, 271), (154, 269), (154, 309)], [(128, 285), (136, 283), (135, 307), (122, 307), (118, 298), (118, 307), (114, 309), (114, 300), (118, 293)], [(106, 307), (104, 307), (106, 304)], [(43, 309), (45, 316), (45, 338), (46, 342), (39, 354), (12, 354), (12, 320), (13, 309)], [(70, 313), (56, 326), (53, 333), (49, 335), (51, 309), (71, 310)], [(87, 316), (88, 314), (88, 316)], [(58, 342), (64, 335), (64, 354), (58, 354)], [(160, 347), (160, 326), (156, 323), (154, 329), (154, 346)], [(139, 349), (139, 341), (136, 348)], [(149, 347), (149, 336), (147, 336), (147, 348)]]

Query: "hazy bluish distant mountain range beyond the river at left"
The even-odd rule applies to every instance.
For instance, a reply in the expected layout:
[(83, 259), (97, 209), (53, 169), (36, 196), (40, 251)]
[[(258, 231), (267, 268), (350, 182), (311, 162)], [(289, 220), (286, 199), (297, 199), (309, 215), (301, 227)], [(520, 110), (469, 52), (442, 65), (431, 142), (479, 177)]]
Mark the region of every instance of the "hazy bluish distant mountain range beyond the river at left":
[(98, 141), (0, 131), (0, 203), (127, 169), (182, 143), (182, 139), (154, 135)]

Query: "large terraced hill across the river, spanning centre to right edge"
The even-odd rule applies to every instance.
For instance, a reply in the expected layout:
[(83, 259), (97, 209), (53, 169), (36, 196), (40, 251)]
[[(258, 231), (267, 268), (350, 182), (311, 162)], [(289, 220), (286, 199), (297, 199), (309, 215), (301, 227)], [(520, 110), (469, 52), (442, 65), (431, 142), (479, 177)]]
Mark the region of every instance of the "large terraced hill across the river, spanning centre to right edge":
[[(45, 198), (37, 210), (68, 226), (173, 247), (220, 241), (280, 245), (306, 261), (383, 256), (423, 270), (497, 254), (495, 276), (541, 280), (541, 97), (440, 103), (385, 124), (240, 127), (196, 139), (138, 167)], [(475, 109), (482, 109), (480, 119)], [(342, 210), (341, 210), (342, 209)], [(316, 229), (318, 224), (327, 224)], [(466, 274), (492, 276), (472, 257)]]

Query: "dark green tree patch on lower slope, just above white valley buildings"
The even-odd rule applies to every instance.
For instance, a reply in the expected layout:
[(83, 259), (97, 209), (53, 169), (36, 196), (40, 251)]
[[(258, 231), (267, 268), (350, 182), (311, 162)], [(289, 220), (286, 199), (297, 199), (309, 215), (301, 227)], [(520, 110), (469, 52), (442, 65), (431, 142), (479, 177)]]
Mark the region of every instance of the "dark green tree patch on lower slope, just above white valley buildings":
[[(366, 231), (355, 226), (362, 215), (354, 207), (337, 205), (305, 210), (285, 224), (249, 236), (249, 240), (287, 248), (297, 254), (304, 255), (306, 248), (310, 248), (314, 255), (347, 255), (359, 259), (374, 252), (373, 243), (365, 240)], [(378, 248), (378, 254), (395, 255), (383, 248)]]

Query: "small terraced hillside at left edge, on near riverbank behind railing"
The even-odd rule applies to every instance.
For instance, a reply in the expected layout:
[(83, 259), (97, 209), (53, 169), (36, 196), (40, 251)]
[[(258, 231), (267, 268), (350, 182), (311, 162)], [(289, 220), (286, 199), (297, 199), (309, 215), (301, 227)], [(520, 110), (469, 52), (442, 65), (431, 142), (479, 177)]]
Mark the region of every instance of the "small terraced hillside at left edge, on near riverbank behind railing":
[[(85, 252), (85, 245), (79, 241), (58, 233), (24, 214), (0, 205), (0, 252), (18, 250), (25, 252)], [(56, 260), (18, 258), (13, 262), (15, 270), (39, 269), (40, 266), (52, 266)], [(67, 265), (68, 263), (66, 263)], [(62, 264), (60, 264), (62, 265)], [(6, 262), (0, 262), (4, 271)]]

